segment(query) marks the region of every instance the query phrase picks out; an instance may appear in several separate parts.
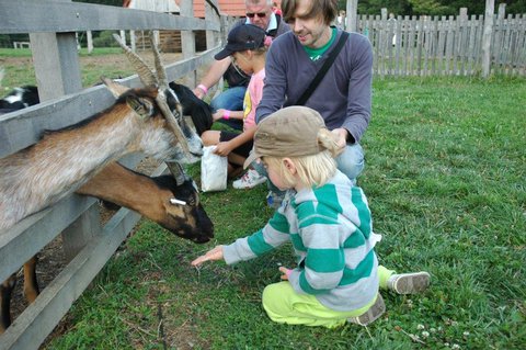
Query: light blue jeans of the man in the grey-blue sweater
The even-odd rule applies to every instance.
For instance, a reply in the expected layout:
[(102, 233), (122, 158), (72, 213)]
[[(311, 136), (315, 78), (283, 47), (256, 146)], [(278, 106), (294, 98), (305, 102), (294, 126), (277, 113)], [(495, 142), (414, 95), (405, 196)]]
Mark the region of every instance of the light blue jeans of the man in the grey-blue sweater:
[[(267, 177), (265, 167), (263, 167), (261, 162), (258, 163), (253, 161), (251, 166), (258, 170), (259, 173)], [(338, 170), (346, 174), (347, 178), (353, 181), (353, 184), (356, 184), (356, 178), (362, 173), (365, 167), (364, 149), (362, 146), (359, 144), (345, 146), (345, 150), (336, 158), (336, 166)], [(267, 185), (270, 191), (278, 195), (283, 195), (285, 193), (279, 191), (279, 189), (276, 188), (271, 181), (267, 181)]]

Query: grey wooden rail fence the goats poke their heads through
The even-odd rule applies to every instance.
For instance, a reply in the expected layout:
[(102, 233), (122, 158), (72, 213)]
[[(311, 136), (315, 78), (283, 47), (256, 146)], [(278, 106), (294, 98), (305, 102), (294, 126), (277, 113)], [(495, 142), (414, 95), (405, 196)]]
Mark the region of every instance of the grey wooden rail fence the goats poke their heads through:
[[(208, 2), (208, 0), (207, 0)], [(180, 30), (183, 59), (167, 67), (169, 80), (194, 75), (220, 49), (230, 19), (220, 16), (217, 0), (206, 5), (206, 19), (71, 2), (19, 0), (0, 2), (0, 33), (30, 33), (41, 104), (0, 116), (0, 158), (34, 144), (44, 129), (78, 123), (112, 105), (115, 99), (103, 86), (82, 90), (76, 32), (101, 30)], [(182, 13), (193, 13), (192, 1), (181, 1)], [(207, 50), (195, 55), (191, 31), (206, 31)], [(123, 84), (139, 87), (137, 76)], [(124, 163), (134, 166), (133, 155)], [(162, 172), (161, 167), (155, 174)], [(95, 200), (70, 195), (56, 205), (0, 232), (0, 280), (11, 273), (58, 234), (62, 234), (69, 264), (0, 336), (0, 349), (37, 349), (72, 303), (114, 253), (140, 216), (122, 208), (101, 227)]]

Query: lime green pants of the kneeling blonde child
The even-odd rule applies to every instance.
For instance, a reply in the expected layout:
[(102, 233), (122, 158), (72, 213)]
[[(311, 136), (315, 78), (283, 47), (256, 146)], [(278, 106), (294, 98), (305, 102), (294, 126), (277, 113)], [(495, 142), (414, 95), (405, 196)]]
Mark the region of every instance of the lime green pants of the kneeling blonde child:
[[(387, 287), (387, 280), (395, 271), (378, 267), (380, 287)], [(352, 312), (336, 312), (323, 306), (316, 296), (298, 294), (288, 281), (273, 283), (263, 291), (263, 308), (268, 317), (278, 324), (323, 326), (335, 328), (350, 317), (364, 314), (376, 302), (376, 297), (362, 308)]]

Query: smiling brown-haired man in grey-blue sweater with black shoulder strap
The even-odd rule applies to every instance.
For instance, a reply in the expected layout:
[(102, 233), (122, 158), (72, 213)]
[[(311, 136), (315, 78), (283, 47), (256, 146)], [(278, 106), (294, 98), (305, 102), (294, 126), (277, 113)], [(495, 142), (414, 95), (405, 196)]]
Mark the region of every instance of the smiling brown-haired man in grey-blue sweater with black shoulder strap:
[[(276, 38), (268, 50), (258, 122), (296, 103), (343, 33), (330, 26), (338, 13), (336, 0), (284, 0), (282, 11), (291, 32)], [(370, 43), (361, 34), (350, 33), (331, 68), (305, 103), (322, 115), (327, 127), (338, 137), (343, 149), (336, 158), (338, 168), (353, 182), (364, 168), (359, 140), (370, 120), (371, 78)]]

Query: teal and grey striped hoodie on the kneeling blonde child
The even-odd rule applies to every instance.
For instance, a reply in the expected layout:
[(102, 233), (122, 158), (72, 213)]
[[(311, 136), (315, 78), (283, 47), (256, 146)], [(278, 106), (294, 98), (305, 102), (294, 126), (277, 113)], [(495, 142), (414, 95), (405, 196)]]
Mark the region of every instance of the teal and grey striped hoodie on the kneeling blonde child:
[(378, 293), (378, 260), (367, 199), (340, 171), (323, 187), (284, 201), (261, 230), (224, 247), (228, 264), (261, 256), (291, 241), (297, 268), (289, 282), (340, 312), (361, 308)]

